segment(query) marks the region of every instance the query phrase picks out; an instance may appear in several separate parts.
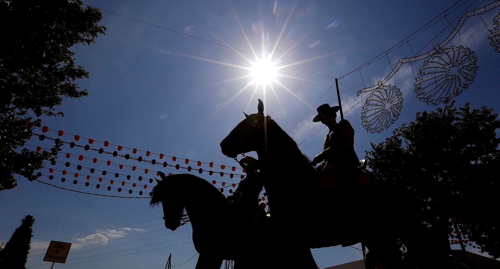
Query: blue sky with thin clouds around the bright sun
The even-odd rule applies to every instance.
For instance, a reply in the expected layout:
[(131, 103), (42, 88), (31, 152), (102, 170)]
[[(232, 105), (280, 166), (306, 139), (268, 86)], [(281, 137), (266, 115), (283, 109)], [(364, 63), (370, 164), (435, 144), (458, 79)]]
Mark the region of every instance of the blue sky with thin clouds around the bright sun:
[[(103, 12), (101, 22), (107, 27), (106, 34), (99, 36), (96, 43), (90, 46), (74, 47), (76, 63), (90, 72), (88, 79), (80, 81), (80, 87), (88, 89), (89, 96), (80, 100), (64, 100), (60, 109), (65, 116), (44, 118), (42, 125), (98, 141), (108, 140), (115, 145), (231, 167), (236, 163), (220, 153), (219, 143), (242, 119), (243, 110), (248, 114), (256, 112), (257, 98), (265, 100), (264, 112), (270, 114), (285, 131), (290, 130), (289, 134), (300, 143), (323, 128), (320, 123), (312, 123), (315, 107), (306, 114), (309, 108), (321, 96), (316, 106), (322, 103), (337, 104), (334, 87), (326, 92), (334, 83), (330, 77), (340, 77), (390, 48), (454, 2), (298, 1), (293, 7), (293, 1), (281, 0), (235, 1), (230, 4), (227, 1), (88, 1), (85, 3), (253, 53), (244, 31), (259, 56), (267, 56), (273, 51), (282, 31), (271, 58), (276, 59), (284, 54), (280, 59), (282, 63), (293, 64), (315, 73), (295, 67), (281, 68), (278, 72), (284, 76), (278, 76), (278, 82), (271, 82), (275, 94), (270, 86), (267, 86), (264, 96), (261, 85), (255, 87), (254, 83), (250, 83), (253, 77), (252, 71), (249, 70), (252, 66), (249, 61), (256, 61), (253, 55), (241, 53), (244, 56), (242, 57), (234, 50), (220, 45)], [(481, 2), (489, 3), (485, 0)], [(466, 1), (447, 15), (453, 26), (457, 20), (451, 20), (469, 4), (471, 5), (467, 10), (481, 6), (478, 1)], [(488, 27), (498, 11), (497, 7), (481, 14)], [(289, 20), (283, 29), (289, 14)], [(238, 18), (241, 28), (235, 17)], [(409, 44), (413, 51), (428, 51), (434, 44), (441, 42), (451, 31), (451, 26), (425, 46), (447, 25), (448, 22), (441, 19), (411, 39)], [(460, 39), (455, 36), (451, 40), (455, 45), (461, 43), (475, 51), (479, 66), (474, 82), (454, 100), (458, 105), (470, 102), (472, 107), (485, 105), (497, 111), (500, 97), (500, 70), (497, 63), (500, 54), (494, 52), (494, 48), (489, 45), (488, 34), (481, 19), (474, 16), (466, 20), (460, 30)], [(355, 92), (363, 88), (363, 82), (365, 86), (376, 84), (390, 72), (390, 65), (394, 66), (399, 58), (408, 56), (412, 56), (412, 52), (410, 47), (404, 44), (388, 53), (387, 57), (384, 56), (362, 68), (362, 80), (358, 71), (340, 80), (343, 110), (345, 112), (353, 107), (345, 112), (345, 118), (355, 129), (355, 150), (360, 158), (364, 156), (365, 150), (370, 149), (370, 142), (382, 141), (391, 134), (394, 127), (412, 120), (417, 111), (434, 109), (415, 97), (413, 72), (411, 66), (405, 65), (395, 75), (395, 85), (400, 88), (404, 99), (399, 120), (379, 134), (367, 133), (361, 126), (360, 111), (363, 102), (358, 103), (361, 97), (356, 97)], [(415, 74), (422, 64), (423, 60), (412, 64)], [(235, 79), (239, 77), (243, 78)], [(248, 83), (250, 85), (236, 95)], [(394, 84), (394, 78), (390, 83)], [(356, 103), (358, 104), (354, 106)], [(300, 118), (302, 120), (299, 121)], [(325, 134), (326, 130), (320, 131), (300, 144), (300, 149), (312, 158), (320, 152)], [(48, 131), (46, 135), (56, 137), (57, 133)], [(73, 141), (72, 136), (66, 134), (61, 139)], [(79, 142), (84, 145), (84, 139)], [(33, 138), (27, 144), (47, 148), (50, 142)], [(92, 146), (103, 147), (99, 142), (94, 142)], [(116, 146), (110, 145), (108, 148), (110, 151), (116, 150)], [(87, 158), (96, 157), (103, 161), (111, 160), (113, 165), (106, 167), (104, 163), (93, 164), (87, 159), (79, 162), (75, 156), (66, 159), (64, 154), (67, 152), (76, 156), (82, 154)], [(126, 148), (121, 152), (131, 154)], [(114, 164), (136, 165), (138, 168), (153, 171), (155, 169), (144, 163), (98, 155), (77, 148), (71, 149), (67, 145), (63, 146), (62, 153), (64, 154), (58, 157), (60, 162), (69, 161), (71, 164), (107, 169), (113, 173), (123, 171), (123, 174), (131, 176), (143, 176), (145, 179), (141, 182), (137, 179), (128, 181), (140, 183), (140, 186), (133, 188), (134, 191), (143, 190), (144, 182), (152, 177), (152, 173), (146, 178), (141, 170), (133, 172), (127, 167), (119, 170)], [(142, 155), (146, 158), (143, 154), (139, 152), (134, 156)], [(184, 164), (183, 160), (172, 162), (171, 158), (167, 157), (165, 160), (181, 166)], [(191, 162), (189, 165), (197, 168), (196, 163)], [(51, 166), (47, 164), (48, 167)], [(202, 168), (209, 169), (206, 164), (203, 164)], [(216, 168), (217, 170), (213, 170), (221, 171), (220, 167)], [(88, 170), (83, 169), (80, 172), (75, 167), (65, 168), (61, 164), (54, 166), (54, 169), (88, 174)], [(175, 169), (164, 171), (177, 173)], [(42, 169), (41, 172), (43, 175), (49, 175), (47, 169)], [(229, 168), (225, 168), (224, 172), (231, 173)], [(238, 173), (238, 170), (235, 173)], [(60, 172), (54, 172), (53, 175), (56, 178), (62, 177)], [(68, 179), (65, 182), (54, 179), (50, 183), (90, 193), (138, 196), (137, 193), (129, 195), (126, 192), (131, 189), (129, 185), (118, 193), (116, 190), (105, 190), (104, 187), (110, 186), (108, 181), (101, 183), (100, 189), (95, 189), (94, 186), (71, 184), (74, 180), (71, 174), (65, 177)], [(114, 179), (111, 174), (96, 177)], [(226, 183), (238, 181), (236, 177), (230, 179), (228, 176), (205, 178)], [(47, 177), (40, 179), (44, 182), (50, 181)], [(117, 183), (114, 183), (113, 187), (120, 187), (117, 185), (121, 179), (121, 176), (114, 179)], [(78, 181), (86, 180), (80, 175)], [(99, 183), (94, 178), (89, 182)], [(149, 182), (145, 184), (151, 185)], [(216, 186), (220, 188), (220, 183)], [(188, 186), (180, 191), (186, 190)], [(147, 192), (143, 196), (147, 196)], [(66, 262), (68, 266), (65, 266), (74, 269), (161, 268), (170, 253), (174, 258), (174, 266), (187, 261), (195, 254), (192, 243), (188, 243), (191, 241), (190, 225), (182, 226), (177, 230), (178, 233), (169, 234), (171, 231), (165, 229), (162, 224), (161, 208), (148, 208), (148, 199), (90, 196), (21, 179), (15, 189), (0, 193), (0, 201), (0, 214), (4, 220), (0, 222), (1, 241), (6, 242), (9, 239), (12, 231), (19, 225), (17, 221), (25, 215), (31, 214), (36, 219), (32, 245), (39, 246), (33, 247), (28, 268), (50, 267), (49, 263), (41, 261), (42, 255), (34, 256), (43, 254), (43, 247), (46, 245), (42, 244), (50, 240), (75, 243)], [(139, 223), (141, 221), (147, 222)], [(114, 230), (104, 231), (108, 229)], [(136, 230), (129, 231), (132, 229)], [(221, 240), (229, 242), (237, 233), (238, 227), (234, 227), (234, 232), (221, 236)], [(89, 240), (97, 237), (100, 238)], [(129, 243), (122, 244), (127, 242)], [(89, 244), (95, 245), (87, 246)], [(113, 247), (116, 244), (120, 245)], [(132, 248), (137, 249), (129, 250)], [(76, 254), (80, 251), (87, 252)], [(142, 253), (132, 254), (136, 252)], [(313, 250), (313, 254), (321, 268), (362, 258), (360, 251), (340, 247)], [(114, 256), (120, 257), (104, 259)], [(196, 258), (176, 268), (193, 268)], [(97, 259), (103, 260), (93, 261)], [(75, 264), (80, 262), (86, 263)]]

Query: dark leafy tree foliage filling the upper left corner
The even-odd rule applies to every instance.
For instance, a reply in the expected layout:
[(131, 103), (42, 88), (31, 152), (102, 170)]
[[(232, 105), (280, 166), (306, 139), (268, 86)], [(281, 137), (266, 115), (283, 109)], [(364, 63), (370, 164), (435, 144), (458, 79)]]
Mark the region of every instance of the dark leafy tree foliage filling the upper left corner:
[[(40, 116), (63, 116), (55, 109), (63, 98), (88, 95), (79, 90), (76, 79), (88, 77), (82, 66), (75, 66), (74, 44), (90, 44), (105, 27), (98, 25), (101, 12), (83, 8), (80, 0), (0, 0), (3, 27), (0, 50), (0, 191), (14, 188), (13, 174), (28, 180), (53, 160), (60, 150), (51, 152), (21, 149), (32, 136), (28, 122), (41, 126)], [(8, 25), (8, 26), (7, 26)]]

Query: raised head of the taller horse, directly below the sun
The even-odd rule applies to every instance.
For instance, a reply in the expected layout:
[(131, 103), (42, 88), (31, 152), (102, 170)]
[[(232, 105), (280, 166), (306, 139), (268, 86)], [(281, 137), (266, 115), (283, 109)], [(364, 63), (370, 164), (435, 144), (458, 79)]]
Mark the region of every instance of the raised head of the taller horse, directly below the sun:
[(264, 103), (258, 99), (257, 113), (246, 115), (234, 129), (220, 142), (222, 154), (229, 158), (235, 158), (238, 154), (256, 151), (259, 145), (263, 145), (264, 126), (269, 117), (264, 115)]

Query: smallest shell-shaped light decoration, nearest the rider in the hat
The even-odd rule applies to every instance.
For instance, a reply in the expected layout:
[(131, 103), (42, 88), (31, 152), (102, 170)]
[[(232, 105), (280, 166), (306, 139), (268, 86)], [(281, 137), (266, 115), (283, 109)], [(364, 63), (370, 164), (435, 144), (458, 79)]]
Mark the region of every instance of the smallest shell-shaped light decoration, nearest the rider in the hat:
[(401, 112), (403, 98), (396, 86), (380, 85), (363, 104), (361, 124), (370, 133), (380, 133), (392, 125)]

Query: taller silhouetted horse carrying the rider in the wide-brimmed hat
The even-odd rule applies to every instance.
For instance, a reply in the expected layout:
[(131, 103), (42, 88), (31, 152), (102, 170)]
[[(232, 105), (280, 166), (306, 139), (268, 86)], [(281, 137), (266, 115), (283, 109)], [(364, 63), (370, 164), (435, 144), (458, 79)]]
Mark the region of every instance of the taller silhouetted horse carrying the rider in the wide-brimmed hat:
[(220, 147), (230, 158), (257, 153), (272, 223), (281, 228), (274, 235), (280, 239), (279, 247), (321, 248), (363, 242), (377, 258), (394, 253), (402, 233), (398, 228), (403, 228), (402, 220), (395, 221), (401, 212), (396, 212), (394, 196), (376, 184), (336, 185), (325, 191), (321, 187), (324, 182), (295, 141), (263, 114), (260, 100), (257, 110), (245, 114)]

